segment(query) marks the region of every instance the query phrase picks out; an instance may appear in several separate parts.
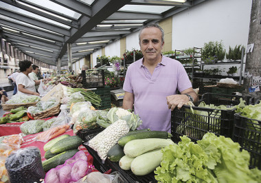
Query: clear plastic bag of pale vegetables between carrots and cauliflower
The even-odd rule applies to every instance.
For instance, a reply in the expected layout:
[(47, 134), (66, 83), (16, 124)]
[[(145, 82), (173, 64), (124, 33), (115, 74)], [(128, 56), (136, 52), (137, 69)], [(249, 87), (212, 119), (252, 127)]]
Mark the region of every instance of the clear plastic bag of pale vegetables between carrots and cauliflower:
[(80, 113), (75, 124), (73, 125), (73, 133), (77, 133), (81, 129), (95, 129), (99, 127), (96, 123), (98, 114), (96, 111), (87, 110)]

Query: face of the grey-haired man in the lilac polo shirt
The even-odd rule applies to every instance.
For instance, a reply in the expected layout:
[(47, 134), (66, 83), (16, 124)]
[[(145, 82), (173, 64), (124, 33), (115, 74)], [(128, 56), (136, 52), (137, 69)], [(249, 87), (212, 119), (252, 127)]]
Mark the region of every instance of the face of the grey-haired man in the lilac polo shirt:
[(164, 42), (161, 41), (159, 28), (145, 28), (140, 34), (141, 52), (146, 60), (157, 60), (161, 56)]

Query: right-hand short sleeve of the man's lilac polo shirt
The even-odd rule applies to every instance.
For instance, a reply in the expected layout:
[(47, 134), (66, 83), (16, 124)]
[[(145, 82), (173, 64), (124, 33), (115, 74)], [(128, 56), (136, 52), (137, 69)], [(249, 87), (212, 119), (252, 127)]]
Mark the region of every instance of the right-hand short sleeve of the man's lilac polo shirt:
[(178, 89), (179, 92), (183, 92), (185, 89), (192, 87), (190, 78), (183, 65), (179, 64), (179, 76), (178, 76)]

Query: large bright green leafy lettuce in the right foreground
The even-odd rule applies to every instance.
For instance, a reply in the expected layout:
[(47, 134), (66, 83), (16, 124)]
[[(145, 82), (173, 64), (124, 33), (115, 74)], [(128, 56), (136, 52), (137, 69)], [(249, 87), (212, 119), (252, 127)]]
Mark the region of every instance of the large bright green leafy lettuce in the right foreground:
[(159, 182), (259, 182), (261, 171), (249, 169), (250, 155), (224, 136), (206, 133), (198, 144), (183, 136), (179, 144), (163, 148)]

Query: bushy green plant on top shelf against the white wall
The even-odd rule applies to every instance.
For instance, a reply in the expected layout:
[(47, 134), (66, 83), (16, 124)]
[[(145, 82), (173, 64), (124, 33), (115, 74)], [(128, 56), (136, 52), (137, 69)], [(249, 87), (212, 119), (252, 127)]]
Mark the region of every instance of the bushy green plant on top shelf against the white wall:
[(225, 58), (225, 50), (222, 41), (209, 41), (208, 43), (204, 43), (202, 50), (203, 61), (205, 62), (207, 58), (211, 58), (212, 56), (216, 56), (217, 61), (222, 61)]

